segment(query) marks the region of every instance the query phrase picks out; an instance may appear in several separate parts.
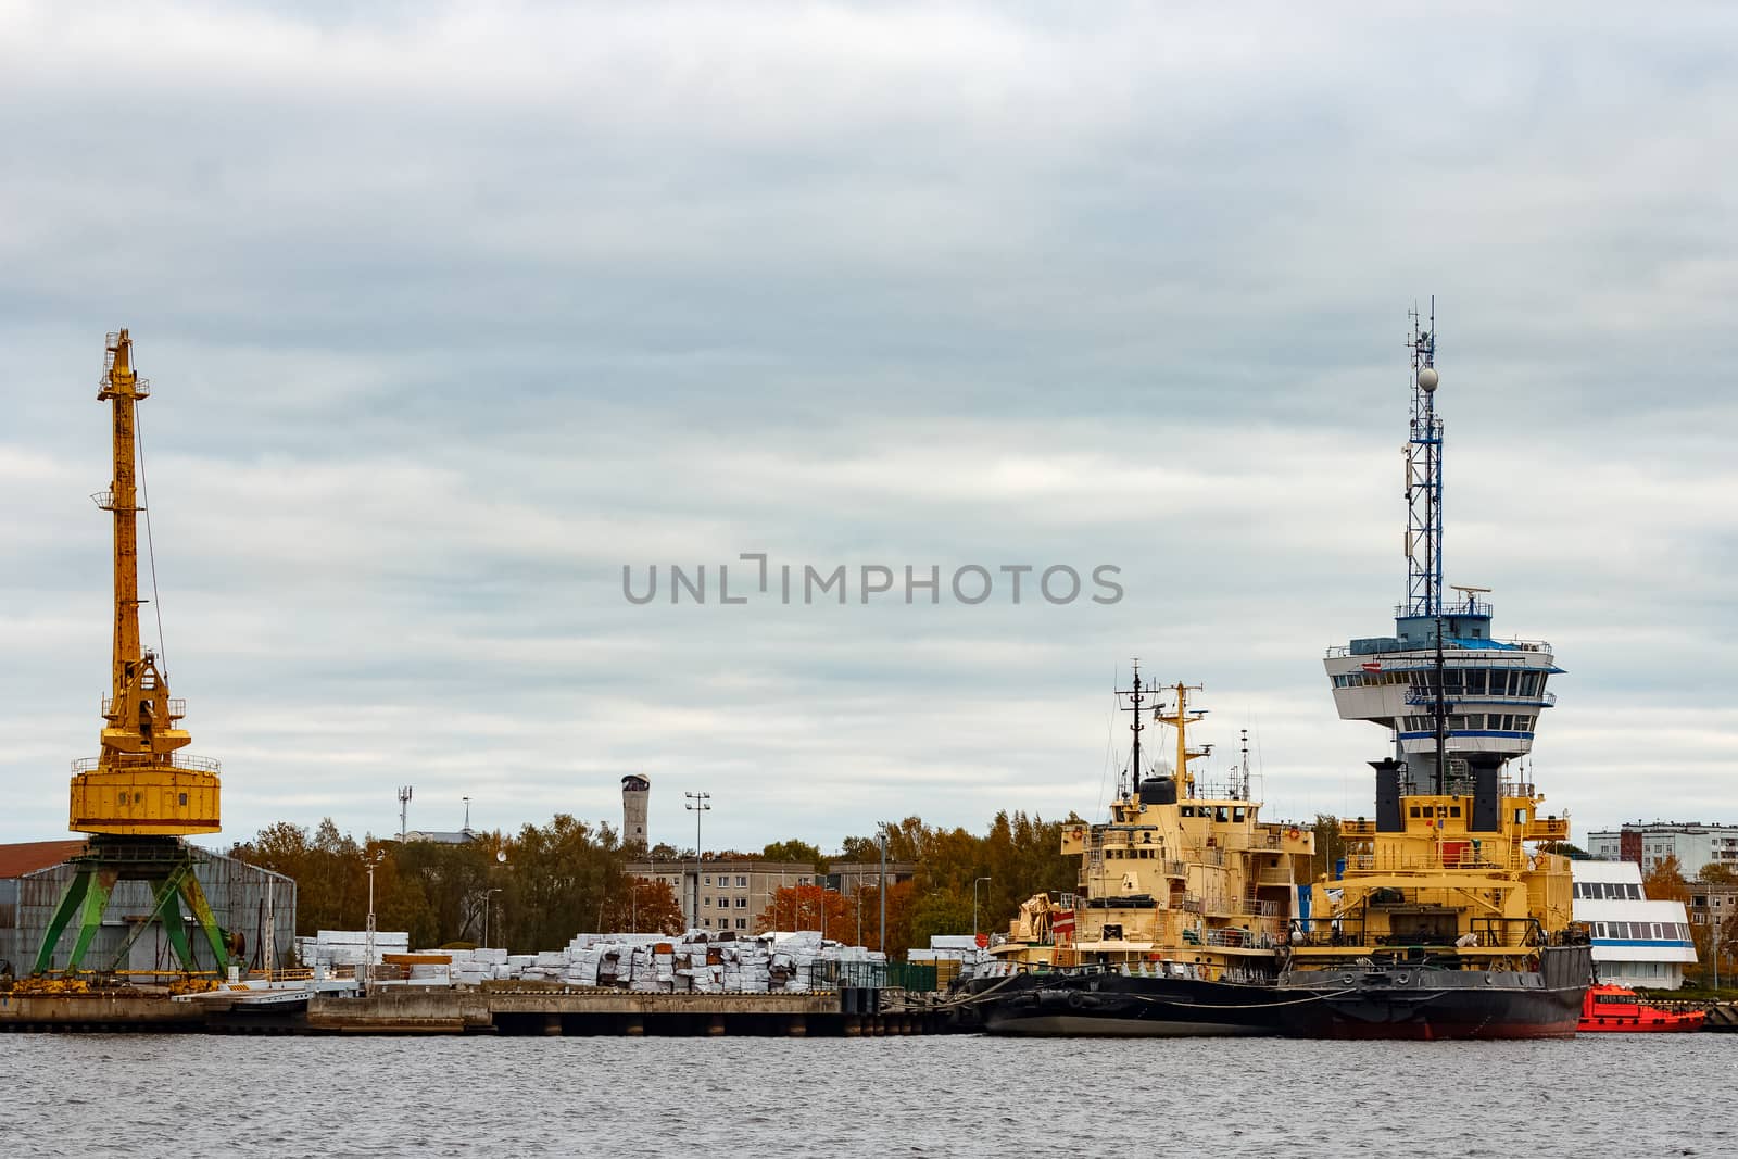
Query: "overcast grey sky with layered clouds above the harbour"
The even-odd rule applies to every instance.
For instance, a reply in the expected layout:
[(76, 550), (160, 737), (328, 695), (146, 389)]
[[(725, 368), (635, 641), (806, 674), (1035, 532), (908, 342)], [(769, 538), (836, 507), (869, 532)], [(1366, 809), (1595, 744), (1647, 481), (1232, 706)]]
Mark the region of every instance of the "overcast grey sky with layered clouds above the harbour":
[(1430, 294), (1549, 808), (1738, 822), (1738, 10), (1368, 7), (0, 0), (0, 839), (97, 751), (122, 325), (216, 841), (1097, 817), (1131, 657), (1368, 811), (1321, 657), (1404, 594)]

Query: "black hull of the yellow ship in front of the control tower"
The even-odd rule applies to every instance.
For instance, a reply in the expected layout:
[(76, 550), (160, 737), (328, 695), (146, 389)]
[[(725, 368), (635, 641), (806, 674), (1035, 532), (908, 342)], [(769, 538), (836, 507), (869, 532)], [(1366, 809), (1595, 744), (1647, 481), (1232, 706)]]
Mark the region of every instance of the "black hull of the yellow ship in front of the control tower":
[(1536, 971), (1443, 966), (1295, 970), (1279, 990), (1293, 1037), (1556, 1039), (1575, 1037), (1592, 975), (1585, 945), (1547, 947)]

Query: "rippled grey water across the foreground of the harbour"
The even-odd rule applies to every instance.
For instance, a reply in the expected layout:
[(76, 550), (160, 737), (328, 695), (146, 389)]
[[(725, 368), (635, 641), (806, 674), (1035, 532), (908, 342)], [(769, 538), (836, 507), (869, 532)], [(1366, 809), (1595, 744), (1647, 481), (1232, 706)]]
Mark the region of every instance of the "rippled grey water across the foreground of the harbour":
[(12, 1156), (1738, 1156), (1738, 1036), (0, 1037)]

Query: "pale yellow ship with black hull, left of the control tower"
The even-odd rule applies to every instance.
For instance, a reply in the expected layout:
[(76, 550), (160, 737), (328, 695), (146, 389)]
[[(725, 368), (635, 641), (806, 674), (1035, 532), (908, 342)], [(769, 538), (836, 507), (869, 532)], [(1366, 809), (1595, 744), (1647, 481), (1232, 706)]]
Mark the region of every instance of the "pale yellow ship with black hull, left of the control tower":
[[(1300, 858), (1314, 831), (1260, 820), (1248, 749), (1224, 784), (1197, 784), (1189, 726), (1203, 719), (1184, 683), (1144, 686), (1138, 664), (1119, 690), (1133, 752), (1109, 820), (1072, 824), (1072, 893), (1020, 907), (992, 961), (956, 987), (956, 1003), (991, 1034), (1281, 1034), (1291, 996), (1276, 990), (1295, 914)], [(1159, 697), (1149, 709), (1149, 699)], [(1144, 716), (1175, 730), (1175, 763), (1142, 763)], [(1312, 1001), (1312, 999), (1304, 999)]]

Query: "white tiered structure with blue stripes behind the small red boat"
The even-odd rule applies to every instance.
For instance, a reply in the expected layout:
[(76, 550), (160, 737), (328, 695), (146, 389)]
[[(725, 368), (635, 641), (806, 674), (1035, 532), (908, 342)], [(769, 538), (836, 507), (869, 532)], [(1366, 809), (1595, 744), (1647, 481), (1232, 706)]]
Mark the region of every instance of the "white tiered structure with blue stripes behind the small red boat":
[(1601, 982), (1675, 990), (1696, 964), (1682, 902), (1649, 902), (1635, 862), (1571, 862), (1575, 919), (1594, 935)]

